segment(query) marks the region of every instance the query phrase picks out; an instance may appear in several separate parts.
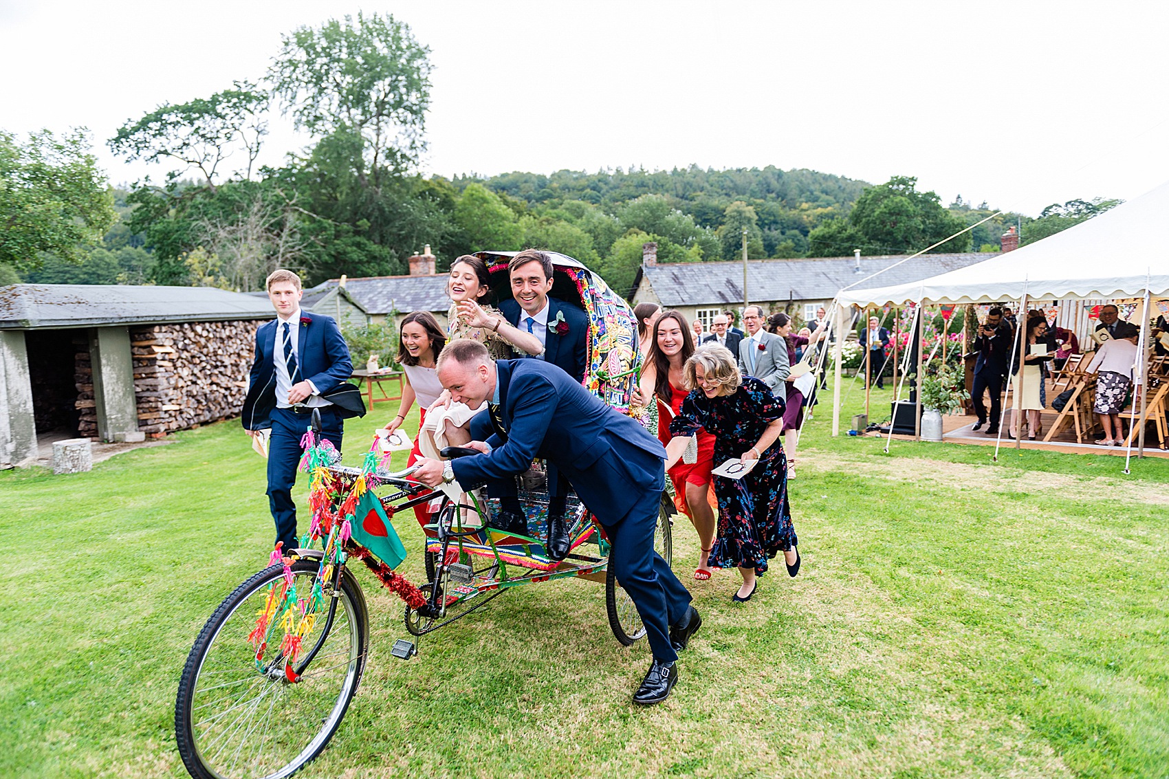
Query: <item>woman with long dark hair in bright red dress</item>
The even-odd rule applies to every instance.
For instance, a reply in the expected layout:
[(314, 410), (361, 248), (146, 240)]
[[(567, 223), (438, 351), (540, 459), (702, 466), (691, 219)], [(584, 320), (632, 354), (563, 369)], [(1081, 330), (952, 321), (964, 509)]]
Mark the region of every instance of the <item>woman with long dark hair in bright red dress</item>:
[[(690, 324), (678, 311), (667, 311), (653, 323), (653, 339), (642, 371), (641, 389), (645, 398), (653, 397), (658, 404), (658, 440), (670, 443), (670, 421), (682, 409), (682, 401), (689, 394), (683, 388), (682, 366), (694, 353), (694, 340)], [(711, 469), (714, 467), (714, 436), (699, 429), (698, 461), (686, 463), (684, 457), (670, 469), (678, 496), (678, 508), (694, 524), (701, 554), (694, 578), (705, 581), (711, 578), (708, 556), (714, 542), (717, 517), (711, 505)]]

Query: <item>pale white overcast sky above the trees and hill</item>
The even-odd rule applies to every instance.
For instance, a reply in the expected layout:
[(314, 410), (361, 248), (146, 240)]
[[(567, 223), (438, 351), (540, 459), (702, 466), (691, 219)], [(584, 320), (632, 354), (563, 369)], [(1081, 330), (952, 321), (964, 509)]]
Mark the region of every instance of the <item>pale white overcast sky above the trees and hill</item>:
[[(434, 64), (423, 171), (775, 165), (1037, 214), (1169, 180), (1169, 2), (0, 0), (0, 129), (104, 142), (390, 12)], [(279, 117), (264, 161), (299, 149)]]

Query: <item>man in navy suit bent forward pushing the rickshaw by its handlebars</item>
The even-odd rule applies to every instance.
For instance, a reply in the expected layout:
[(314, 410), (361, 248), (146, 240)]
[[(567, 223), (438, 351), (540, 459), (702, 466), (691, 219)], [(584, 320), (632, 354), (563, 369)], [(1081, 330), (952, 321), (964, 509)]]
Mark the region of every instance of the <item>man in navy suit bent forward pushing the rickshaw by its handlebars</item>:
[(429, 487), (457, 480), (471, 489), (521, 474), (534, 457), (554, 464), (604, 528), (609, 565), (645, 626), (653, 664), (634, 703), (665, 701), (678, 681), (677, 652), (701, 618), (670, 565), (653, 551), (665, 488), (660, 442), (559, 367), (532, 359), (492, 360), (475, 340), (443, 349), (438, 380), (454, 401), (472, 408), (486, 401), (494, 432), (486, 441), (468, 444), (479, 453), (473, 456), (419, 460), (414, 478)]

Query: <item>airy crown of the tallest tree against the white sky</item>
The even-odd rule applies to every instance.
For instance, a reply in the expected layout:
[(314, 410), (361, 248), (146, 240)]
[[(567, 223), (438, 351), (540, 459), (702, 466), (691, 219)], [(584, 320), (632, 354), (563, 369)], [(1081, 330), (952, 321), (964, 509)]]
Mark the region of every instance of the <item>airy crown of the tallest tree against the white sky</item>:
[(404, 22), (358, 13), (283, 37), (269, 70), (298, 130), (347, 137), (358, 182), (380, 191), (426, 149), (430, 49)]

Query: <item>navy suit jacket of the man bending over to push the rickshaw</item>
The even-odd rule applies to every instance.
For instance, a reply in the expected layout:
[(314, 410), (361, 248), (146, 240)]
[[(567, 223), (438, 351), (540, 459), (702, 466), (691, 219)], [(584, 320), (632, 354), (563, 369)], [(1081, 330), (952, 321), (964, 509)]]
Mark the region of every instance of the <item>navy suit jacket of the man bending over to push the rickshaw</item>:
[(544, 360), (496, 360), (506, 430), (490, 454), (451, 461), (464, 489), (523, 474), (544, 457), (602, 524), (616, 524), (648, 491), (665, 488), (665, 447), (637, 420), (606, 406)]

